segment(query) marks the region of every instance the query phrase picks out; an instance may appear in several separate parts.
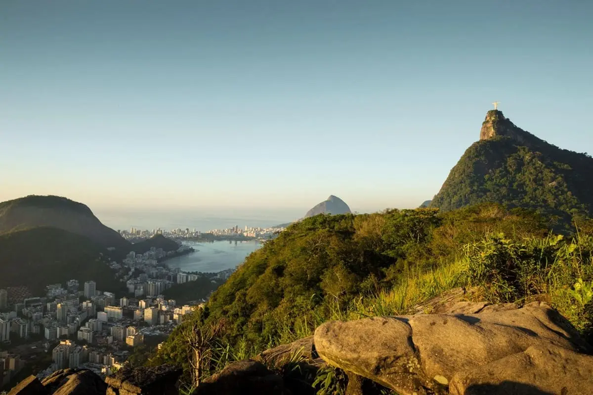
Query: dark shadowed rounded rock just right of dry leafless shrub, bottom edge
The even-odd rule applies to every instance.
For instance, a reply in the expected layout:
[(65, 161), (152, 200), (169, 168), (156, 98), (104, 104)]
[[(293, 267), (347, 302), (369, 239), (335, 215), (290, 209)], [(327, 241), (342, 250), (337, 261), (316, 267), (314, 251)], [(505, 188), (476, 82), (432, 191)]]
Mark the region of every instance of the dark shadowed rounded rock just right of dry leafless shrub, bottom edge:
[(285, 395), (279, 375), (257, 361), (234, 362), (201, 383), (192, 395)]

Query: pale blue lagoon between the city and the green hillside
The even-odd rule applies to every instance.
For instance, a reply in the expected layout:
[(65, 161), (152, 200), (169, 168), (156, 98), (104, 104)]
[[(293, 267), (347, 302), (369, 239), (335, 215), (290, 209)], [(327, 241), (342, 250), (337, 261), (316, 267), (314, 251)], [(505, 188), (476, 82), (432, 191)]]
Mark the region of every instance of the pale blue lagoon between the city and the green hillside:
[(247, 255), (256, 251), (262, 243), (217, 241), (213, 243), (186, 242), (196, 252), (177, 256), (165, 261), (170, 268), (188, 272), (219, 272), (241, 264)]

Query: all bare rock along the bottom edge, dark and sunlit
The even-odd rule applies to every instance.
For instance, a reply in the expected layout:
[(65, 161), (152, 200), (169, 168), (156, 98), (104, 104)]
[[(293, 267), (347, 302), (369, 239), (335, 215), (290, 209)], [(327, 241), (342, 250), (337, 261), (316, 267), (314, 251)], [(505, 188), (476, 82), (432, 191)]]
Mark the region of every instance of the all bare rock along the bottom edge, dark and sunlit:
[[(489, 304), (463, 300), (465, 294), (449, 291), (412, 316), (324, 323), (310, 338), (228, 365), (193, 395), (313, 395), (314, 373), (328, 365), (346, 372), (350, 395), (590, 392), (593, 349), (549, 304)], [(88, 383), (96, 389), (84, 393), (174, 394), (180, 373), (168, 365), (125, 368), (103, 385), (88, 371), (65, 370), (43, 381), (31, 376), (10, 395), (76, 395)]]

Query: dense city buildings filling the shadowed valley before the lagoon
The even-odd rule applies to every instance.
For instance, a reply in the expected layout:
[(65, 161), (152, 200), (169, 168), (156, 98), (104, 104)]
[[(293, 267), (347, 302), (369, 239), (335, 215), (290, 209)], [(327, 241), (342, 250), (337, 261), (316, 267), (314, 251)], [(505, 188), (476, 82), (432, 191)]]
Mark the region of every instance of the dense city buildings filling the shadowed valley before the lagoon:
[(208, 298), (182, 305), (165, 291), (205, 278), (216, 287), (235, 270), (184, 272), (164, 263), (189, 252), (191, 247), (178, 244), (174, 251), (152, 247), (132, 251), (122, 262), (109, 260), (113, 281), (127, 288), (121, 297), (98, 290), (93, 280), (47, 284), (44, 296), (31, 296), (24, 287), (0, 290), (0, 389), (33, 370), (39, 378), (80, 367), (104, 376), (122, 367), (136, 347), (163, 341)]

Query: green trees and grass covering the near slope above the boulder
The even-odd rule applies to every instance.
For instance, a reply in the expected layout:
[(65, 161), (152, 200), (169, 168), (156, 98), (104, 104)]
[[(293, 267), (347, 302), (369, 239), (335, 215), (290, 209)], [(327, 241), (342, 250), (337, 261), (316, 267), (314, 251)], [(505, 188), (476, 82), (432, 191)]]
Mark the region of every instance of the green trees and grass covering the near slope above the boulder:
[[(410, 313), (456, 287), (475, 287), (476, 297), (493, 303), (545, 293), (586, 334), (593, 318), (593, 226), (579, 220), (569, 235), (554, 235), (549, 224), (534, 210), (499, 204), (302, 220), (248, 256), (151, 363), (190, 370), (182, 335), (190, 325), (220, 328), (203, 370), (208, 375), (310, 336), (327, 320)], [(336, 391), (327, 377), (317, 384)]]

